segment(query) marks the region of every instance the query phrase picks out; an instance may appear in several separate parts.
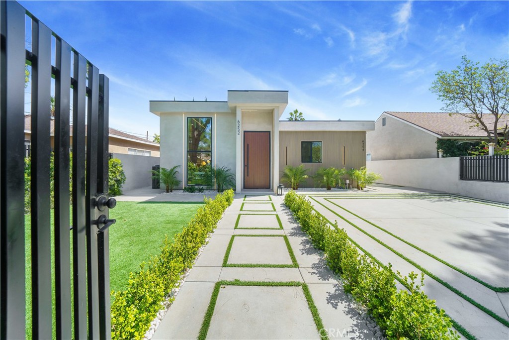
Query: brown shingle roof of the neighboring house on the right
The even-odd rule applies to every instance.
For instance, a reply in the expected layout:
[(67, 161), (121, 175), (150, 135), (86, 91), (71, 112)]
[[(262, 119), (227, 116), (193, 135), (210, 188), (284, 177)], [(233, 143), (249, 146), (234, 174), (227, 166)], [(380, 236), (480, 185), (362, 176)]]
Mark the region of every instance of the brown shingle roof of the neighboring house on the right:
[[(468, 118), (459, 113), (444, 112), (384, 112), (391, 116), (403, 119), (409, 123), (422, 127), (442, 137), (487, 137), (486, 132), (479, 127), (472, 126)], [(483, 121), (493, 129), (493, 115), (484, 114)], [(509, 124), (509, 115), (504, 114), (498, 120), (498, 126)]]

